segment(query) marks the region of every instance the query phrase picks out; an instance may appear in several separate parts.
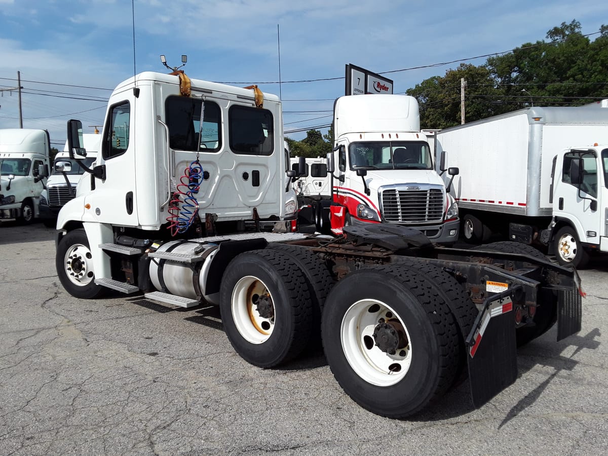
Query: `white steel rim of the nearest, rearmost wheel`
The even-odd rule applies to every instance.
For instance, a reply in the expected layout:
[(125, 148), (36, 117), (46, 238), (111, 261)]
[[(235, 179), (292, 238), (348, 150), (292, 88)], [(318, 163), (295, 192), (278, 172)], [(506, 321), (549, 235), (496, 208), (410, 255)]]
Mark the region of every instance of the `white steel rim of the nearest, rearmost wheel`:
[[(374, 329), (381, 318), (398, 321), (407, 337), (407, 346), (393, 355), (375, 344), (370, 348)], [(389, 305), (375, 299), (363, 299), (348, 308), (340, 326), (340, 342), (350, 367), (373, 385), (396, 384), (406, 376), (412, 364), (412, 342), (404, 321)]]

